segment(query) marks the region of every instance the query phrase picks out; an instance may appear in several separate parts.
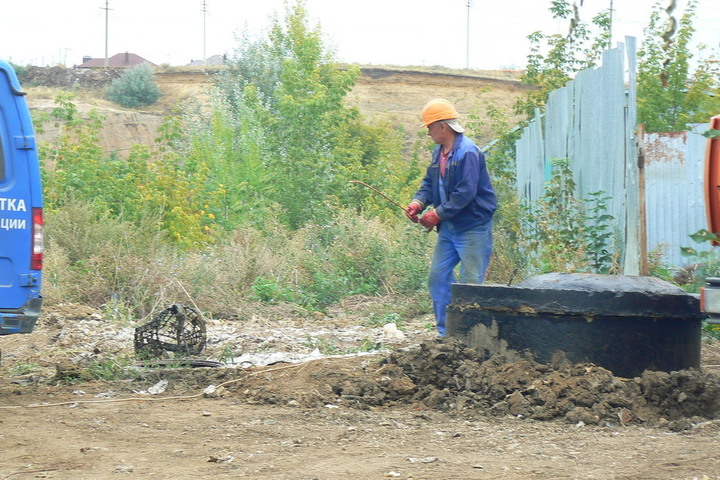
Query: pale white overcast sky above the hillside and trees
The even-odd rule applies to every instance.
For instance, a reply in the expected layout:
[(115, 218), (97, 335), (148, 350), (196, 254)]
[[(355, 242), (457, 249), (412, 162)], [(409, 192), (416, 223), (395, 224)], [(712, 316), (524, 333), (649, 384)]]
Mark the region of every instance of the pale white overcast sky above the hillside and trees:
[[(163, 64), (186, 65), (232, 54), (244, 30), (263, 32), (282, 0), (107, 0), (108, 53), (131, 52)], [(580, 3), (580, 0), (577, 0)], [(3, 2), (0, 58), (17, 64), (68, 67), (83, 56), (105, 56), (106, 0)], [(374, 65), (442, 65), (451, 68), (523, 68), (527, 35), (566, 33), (554, 22), (550, 0), (306, 0), (339, 61)], [(642, 37), (656, 0), (584, 0), (589, 22), (613, 4), (614, 40)], [(669, 0), (661, 0), (666, 5)], [(687, 0), (678, 0), (676, 16)], [(203, 13), (205, 7), (206, 13)], [(467, 24), (470, 13), (470, 38)], [(699, 0), (695, 42), (720, 47), (720, 1)]]

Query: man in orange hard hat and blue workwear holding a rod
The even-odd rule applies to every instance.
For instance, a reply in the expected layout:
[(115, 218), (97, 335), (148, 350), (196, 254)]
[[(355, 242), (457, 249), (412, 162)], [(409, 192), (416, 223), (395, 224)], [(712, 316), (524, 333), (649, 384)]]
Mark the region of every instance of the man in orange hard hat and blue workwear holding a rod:
[[(492, 253), (492, 217), (497, 208), (485, 156), (464, 135), (459, 114), (447, 100), (435, 99), (422, 110), (422, 127), (436, 143), (420, 189), (406, 208), (413, 222), (438, 231), (428, 289), (440, 336), (445, 335), (445, 310), (456, 281), (482, 283)], [(428, 207), (422, 217), (419, 215)]]

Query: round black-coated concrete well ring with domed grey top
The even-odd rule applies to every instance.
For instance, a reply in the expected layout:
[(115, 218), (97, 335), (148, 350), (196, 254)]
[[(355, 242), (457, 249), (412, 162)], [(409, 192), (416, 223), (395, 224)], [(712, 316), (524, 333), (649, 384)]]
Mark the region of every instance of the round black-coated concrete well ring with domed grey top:
[(700, 366), (698, 298), (656, 278), (550, 274), (452, 292), (446, 334), (490, 354), (562, 354), (622, 377)]

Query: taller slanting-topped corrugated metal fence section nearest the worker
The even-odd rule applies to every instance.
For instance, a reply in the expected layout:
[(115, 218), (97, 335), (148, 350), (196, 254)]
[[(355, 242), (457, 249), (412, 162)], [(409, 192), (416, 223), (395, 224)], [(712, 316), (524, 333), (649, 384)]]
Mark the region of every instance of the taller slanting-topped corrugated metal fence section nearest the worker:
[(516, 144), (521, 198), (534, 202), (542, 196), (551, 162), (560, 158), (568, 160), (580, 198), (598, 191), (610, 197), (608, 213), (617, 220), (626, 274), (639, 273), (635, 53), (635, 39), (628, 37), (605, 52), (601, 67), (553, 91), (545, 115), (537, 113)]

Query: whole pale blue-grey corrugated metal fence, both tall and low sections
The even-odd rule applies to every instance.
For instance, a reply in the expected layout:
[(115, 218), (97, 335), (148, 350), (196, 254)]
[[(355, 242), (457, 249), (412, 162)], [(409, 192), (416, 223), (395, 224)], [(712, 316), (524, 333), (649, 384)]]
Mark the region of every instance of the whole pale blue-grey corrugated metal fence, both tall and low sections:
[[(537, 201), (550, 179), (553, 159), (567, 159), (575, 175), (576, 194), (605, 192), (608, 213), (617, 221), (624, 273), (640, 272), (640, 188), (636, 141), (635, 39), (605, 52), (602, 66), (580, 72), (553, 91), (544, 115), (525, 127), (517, 147), (517, 183), (521, 198)], [(627, 65), (625, 64), (627, 61)], [(708, 125), (688, 132), (646, 133), (645, 225), (648, 251), (683, 267), (690, 260), (680, 247), (711, 248), (689, 235), (707, 228), (703, 192)]]

